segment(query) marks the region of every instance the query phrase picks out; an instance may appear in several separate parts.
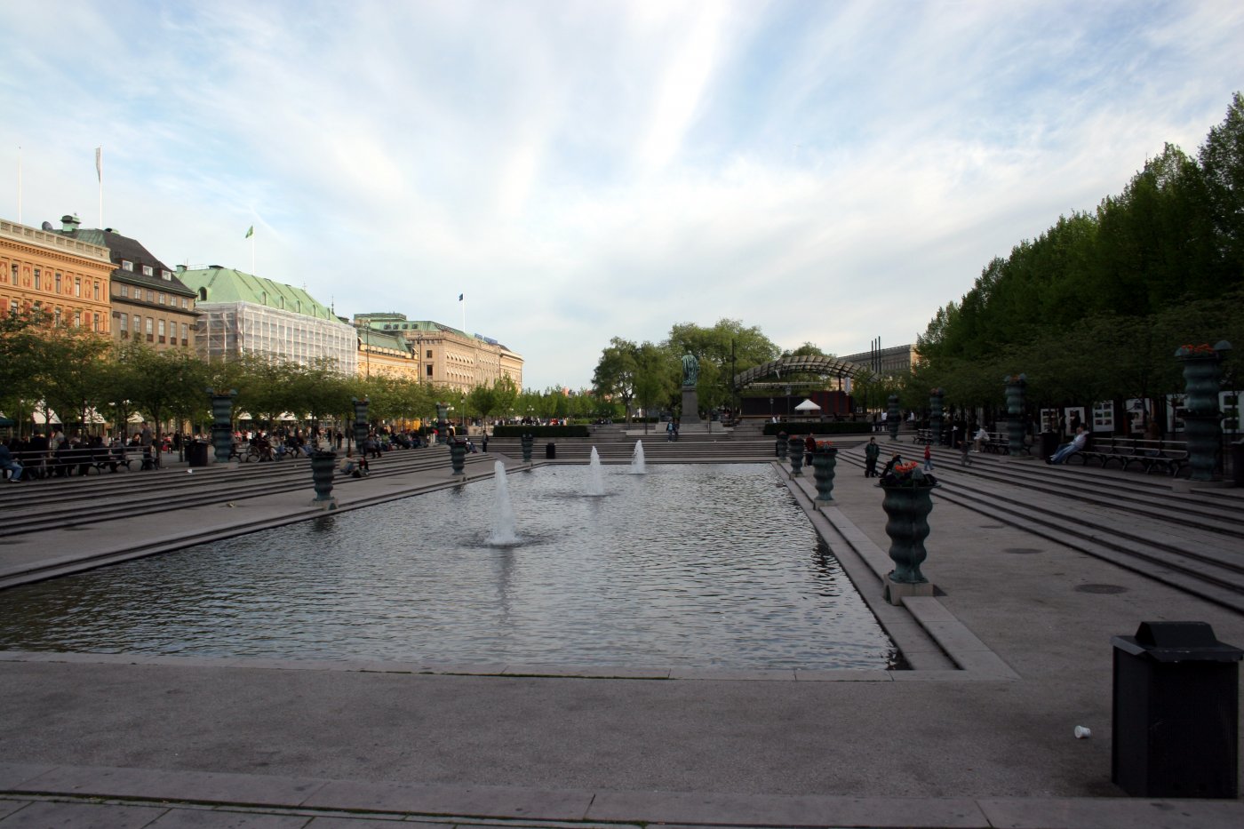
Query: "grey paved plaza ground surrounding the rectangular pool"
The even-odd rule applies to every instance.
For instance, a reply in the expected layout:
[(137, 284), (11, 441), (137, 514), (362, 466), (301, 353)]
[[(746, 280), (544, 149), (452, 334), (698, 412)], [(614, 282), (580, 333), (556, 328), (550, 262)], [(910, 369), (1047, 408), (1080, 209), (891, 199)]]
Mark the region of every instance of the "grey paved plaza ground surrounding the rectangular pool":
[[(835, 504), (821, 512), (810, 477), (775, 480), (796, 492), (913, 670), (0, 653), (0, 829), (1244, 825), (1239, 800), (1128, 798), (1110, 779), (1111, 637), (1197, 620), (1244, 646), (1244, 615), (937, 498), (924, 571), (938, 595), (891, 607), (880, 599), (881, 493), (858, 456), (842, 452)], [(336, 494), (348, 508), (450, 480), (445, 462)], [(51, 483), (26, 492), (42, 498)], [(187, 528), (200, 538), (299, 518), (310, 494), (6, 538), (0, 576), (87, 548), (123, 551), (137, 535), (174, 549)], [(1077, 739), (1077, 726), (1091, 737)]]

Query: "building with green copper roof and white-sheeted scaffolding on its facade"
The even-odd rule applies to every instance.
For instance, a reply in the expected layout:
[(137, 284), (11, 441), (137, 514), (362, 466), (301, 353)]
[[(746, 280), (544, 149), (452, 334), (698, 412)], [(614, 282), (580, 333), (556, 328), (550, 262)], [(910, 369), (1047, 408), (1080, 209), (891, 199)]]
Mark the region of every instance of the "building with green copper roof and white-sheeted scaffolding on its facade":
[(198, 294), (195, 346), (204, 360), (258, 354), (302, 365), (328, 358), (347, 375), (358, 370), (355, 327), (305, 289), (219, 265), (178, 266), (177, 276)]

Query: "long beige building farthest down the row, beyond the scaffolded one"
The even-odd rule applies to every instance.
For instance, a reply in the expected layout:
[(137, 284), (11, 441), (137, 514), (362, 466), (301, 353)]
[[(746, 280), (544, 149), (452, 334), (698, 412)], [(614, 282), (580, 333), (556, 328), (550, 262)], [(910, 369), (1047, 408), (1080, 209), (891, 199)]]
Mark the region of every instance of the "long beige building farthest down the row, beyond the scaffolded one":
[(522, 356), (490, 337), (430, 320), (408, 320), (403, 314), (358, 314), (353, 324), (361, 331), (369, 329), (406, 340), (423, 382), (469, 392), (509, 377), (522, 388)]

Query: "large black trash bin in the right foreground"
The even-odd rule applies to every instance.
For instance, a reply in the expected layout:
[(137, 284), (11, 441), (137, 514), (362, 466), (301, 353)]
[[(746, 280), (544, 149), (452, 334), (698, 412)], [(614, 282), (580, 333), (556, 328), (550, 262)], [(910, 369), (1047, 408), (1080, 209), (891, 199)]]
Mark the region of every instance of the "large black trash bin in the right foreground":
[(1112, 636), (1111, 780), (1132, 797), (1235, 798), (1244, 651), (1205, 622)]

